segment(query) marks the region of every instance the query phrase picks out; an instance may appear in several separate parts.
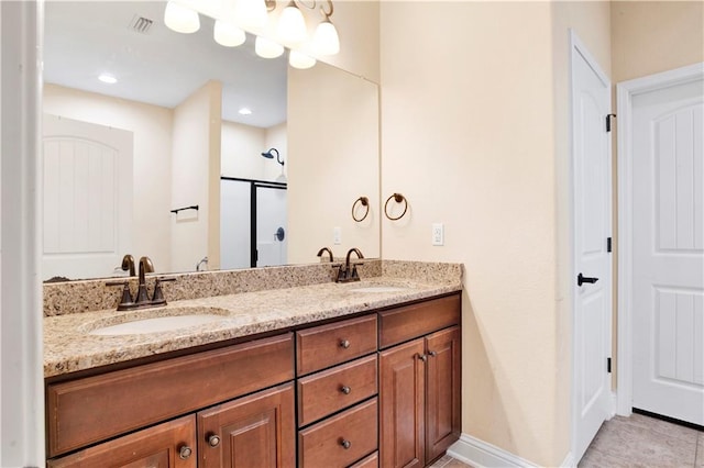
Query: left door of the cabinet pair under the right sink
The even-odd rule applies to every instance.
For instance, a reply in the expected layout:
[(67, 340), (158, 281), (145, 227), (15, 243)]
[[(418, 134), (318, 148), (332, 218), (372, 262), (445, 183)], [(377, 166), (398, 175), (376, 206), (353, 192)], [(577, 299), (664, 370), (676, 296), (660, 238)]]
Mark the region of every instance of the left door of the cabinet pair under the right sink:
[(425, 465), (425, 341), (418, 338), (380, 355), (381, 466)]

